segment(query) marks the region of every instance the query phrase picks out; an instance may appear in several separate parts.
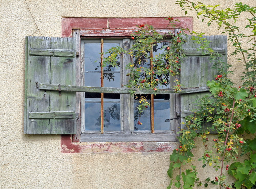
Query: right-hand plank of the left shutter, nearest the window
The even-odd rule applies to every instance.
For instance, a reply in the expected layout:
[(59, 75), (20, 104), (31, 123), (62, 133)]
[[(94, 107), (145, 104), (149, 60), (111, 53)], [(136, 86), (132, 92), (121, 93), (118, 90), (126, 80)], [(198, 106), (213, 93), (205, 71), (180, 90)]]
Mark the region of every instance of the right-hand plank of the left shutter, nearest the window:
[[(74, 38), (51, 37), (51, 49), (74, 49)], [(74, 57), (51, 57), (51, 84), (75, 85), (76, 60)], [(50, 92), (49, 111), (76, 111), (76, 93), (70, 91)], [(50, 119), (51, 134), (76, 134), (76, 120)]]

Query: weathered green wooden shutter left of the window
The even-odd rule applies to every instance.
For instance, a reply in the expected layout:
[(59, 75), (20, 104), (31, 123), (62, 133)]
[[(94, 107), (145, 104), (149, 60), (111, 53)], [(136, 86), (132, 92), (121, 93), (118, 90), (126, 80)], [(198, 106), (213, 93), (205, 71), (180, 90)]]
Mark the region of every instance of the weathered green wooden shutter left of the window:
[(75, 134), (76, 92), (39, 90), (40, 83), (76, 85), (75, 39), (25, 40), (24, 133)]

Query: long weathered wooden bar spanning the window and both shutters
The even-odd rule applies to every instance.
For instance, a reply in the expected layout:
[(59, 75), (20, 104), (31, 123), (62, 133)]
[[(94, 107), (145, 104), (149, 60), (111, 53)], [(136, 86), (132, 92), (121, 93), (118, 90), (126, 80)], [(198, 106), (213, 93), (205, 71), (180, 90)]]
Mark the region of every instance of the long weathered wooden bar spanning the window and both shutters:
[[(131, 91), (135, 91), (140, 94), (186, 94), (186, 93), (198, 93), (209, 91), (209, 87), (190, 87), (183, 88), (180, 91), (175, 92), (174, 89), (158, 89), (157, 91), (148, 89), (129, 89), (129, 88), (114, 88), (114, 87), (90, 87), (90, 86), (73, 86), (73, 85), (60, 85), (61, 91), (76, 91), (76, 92), (91, 92), (91, 93), (118, 93), (118, 94), (130, 94)], [(40, 83), (39, 89), (41, 90), (59, 90), (59, 85)]]

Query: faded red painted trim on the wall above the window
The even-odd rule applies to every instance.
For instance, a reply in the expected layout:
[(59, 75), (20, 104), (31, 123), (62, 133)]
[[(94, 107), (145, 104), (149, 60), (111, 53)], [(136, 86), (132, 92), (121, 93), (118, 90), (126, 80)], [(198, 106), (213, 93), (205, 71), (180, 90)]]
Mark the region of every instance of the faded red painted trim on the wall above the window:
[[(176, 28), (193, 30), (192, 17), (174, 17)], [(61, 35), (71, 37), (72, 29), (137, 29), (136, 25), (146, 23), (155, 29), (166, 28), (168, 20), (161, 18), (62, 18)]]

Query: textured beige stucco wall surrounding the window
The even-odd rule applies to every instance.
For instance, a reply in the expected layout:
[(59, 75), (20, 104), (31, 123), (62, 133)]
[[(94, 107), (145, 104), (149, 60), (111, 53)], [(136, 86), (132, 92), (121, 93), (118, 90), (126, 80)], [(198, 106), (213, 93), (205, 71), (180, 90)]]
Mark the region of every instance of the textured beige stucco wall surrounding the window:
[[(235, 1), (206, 2), (227, 7)], [(42, 35), (54, 37), (61, 36), (62, 17), (184, 16), (174, 0), (27, 0), (27, 3)], [(255, 0), (243, 3), (256, 6)], [(195, 31), (221, 34), (215, 24), (206, 27), (206, 22), (197, 20), (194, 13), (188, 15), (194, 18)], [(244, 24), (245, 18), (241, 15), (238, 26)], [(33, 34), (36, 27), (25, 0), (0, 0), (0, 20), (0, 188), (166, 188), (170, 180), (166, 174), (170, 153), (61, 154), (59, 135), (23, 134), (24, 37)], [(229, 53), (231, 49), (229, 45)], [(241, 63), (230, 55), (228, 61), (235, 70), (231, 77), (239, 84)], [(200, 140), (197, 142), (194, 164), (202, 173), (200, 180), (214, 178), (214, 170), (200, 169), (202, 163), (197, 159), (204, 148)]]

